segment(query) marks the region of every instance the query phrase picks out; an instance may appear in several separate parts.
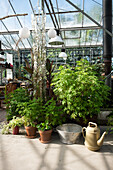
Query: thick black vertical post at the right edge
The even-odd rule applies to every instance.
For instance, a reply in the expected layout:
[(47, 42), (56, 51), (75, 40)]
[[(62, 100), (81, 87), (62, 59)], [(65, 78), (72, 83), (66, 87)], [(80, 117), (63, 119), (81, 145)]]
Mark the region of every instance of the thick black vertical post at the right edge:
[[(103, 0), (103, 27), (112, 33), (112, 0)], [(103, 59), (105, 75), (111, 72), (112, 37), (103, 30)], [(110, 85), (110, 80), (106, 84)]]

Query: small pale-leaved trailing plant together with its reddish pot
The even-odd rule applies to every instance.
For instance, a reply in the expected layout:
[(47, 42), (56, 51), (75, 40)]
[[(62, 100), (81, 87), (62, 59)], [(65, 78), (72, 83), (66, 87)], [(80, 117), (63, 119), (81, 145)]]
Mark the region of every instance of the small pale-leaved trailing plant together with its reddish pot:
[(9, 133), (9, 130), (12, 129), (12, 134), (19, 134), (19, 127), (24, 123), (23, 118), (13, 116), (13, 119), (9, 121), (9, 123), (4, 124), (2, 128), (2, 134)]

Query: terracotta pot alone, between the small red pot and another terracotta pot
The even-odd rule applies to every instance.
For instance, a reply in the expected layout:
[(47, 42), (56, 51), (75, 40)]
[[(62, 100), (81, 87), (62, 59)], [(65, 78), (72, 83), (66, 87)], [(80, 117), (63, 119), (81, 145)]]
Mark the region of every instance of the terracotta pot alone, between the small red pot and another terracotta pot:
[(25, 126), (26, 129), (26, 137), (28, 138), (35, 138), (36, 137), (36, 127), (32, 127), (32, 126)]

